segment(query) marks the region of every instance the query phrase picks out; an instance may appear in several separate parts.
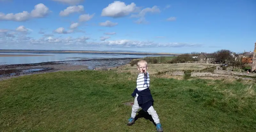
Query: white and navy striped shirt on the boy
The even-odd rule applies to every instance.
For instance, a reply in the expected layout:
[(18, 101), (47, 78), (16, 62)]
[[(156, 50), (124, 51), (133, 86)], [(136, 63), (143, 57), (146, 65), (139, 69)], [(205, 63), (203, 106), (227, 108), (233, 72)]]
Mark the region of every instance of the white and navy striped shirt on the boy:
[(140, 73), (137, 78), (137, 89), (138, 91), (144, 90), (149, 88), (149, 74), (147, 73)]

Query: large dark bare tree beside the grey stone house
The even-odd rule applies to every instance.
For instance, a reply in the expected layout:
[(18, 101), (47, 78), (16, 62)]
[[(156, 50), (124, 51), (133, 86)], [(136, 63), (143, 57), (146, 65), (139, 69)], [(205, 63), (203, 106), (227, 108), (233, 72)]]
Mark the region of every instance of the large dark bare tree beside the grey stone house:
[(230, 50), (218, 50), (217, 52), (215, 52), (215, 60), (219, 61), (220, 63), (226, 63), (232, 58), (230, 54)]

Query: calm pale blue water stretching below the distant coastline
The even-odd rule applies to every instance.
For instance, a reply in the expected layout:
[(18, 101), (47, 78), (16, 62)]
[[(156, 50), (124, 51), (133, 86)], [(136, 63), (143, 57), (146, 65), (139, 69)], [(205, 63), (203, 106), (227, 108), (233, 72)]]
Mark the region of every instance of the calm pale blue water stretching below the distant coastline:
[[(19, 53), (0, 52), (0, 54), (28, 54), (28, 55), (48, 55), (48, 56), (22, 56), (22, 57), (0, 57), (0, 65), (10, 64), (31, 64), (52, 61), (67, 61), (80, 59), (103, 59), (103, 58), (143, 58), (158, 55), (123, 55), (123, 54), (96, 54), (96, 53)], [(50, 55), (50, 56), (49, 56)]]

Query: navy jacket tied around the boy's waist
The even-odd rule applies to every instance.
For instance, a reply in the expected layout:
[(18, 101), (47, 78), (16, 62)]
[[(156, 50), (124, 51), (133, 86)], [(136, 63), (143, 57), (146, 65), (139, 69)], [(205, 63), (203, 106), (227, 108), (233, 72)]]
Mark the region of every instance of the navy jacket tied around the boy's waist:
[(132, 93), (132, 97), (136, 96), (136, 93), (139, 95), (137, 97), (137, 101), (139, 106), (144, 110), (144, 111), (148, 111), (148, 108), (154, 105), (154, 100), (153, 97), (151, 95), (150, 89), (144, 89), (142, 91), (138, 91), (137, 88), (134, 89), (133, 93)]

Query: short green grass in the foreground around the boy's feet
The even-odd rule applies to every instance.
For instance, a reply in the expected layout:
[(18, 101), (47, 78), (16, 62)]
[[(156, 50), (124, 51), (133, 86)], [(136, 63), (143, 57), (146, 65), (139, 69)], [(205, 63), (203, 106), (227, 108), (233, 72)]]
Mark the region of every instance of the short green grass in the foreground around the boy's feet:
[[(0, 131), (155, 131), (140, 118), (127, 126), (132, 73), (75, 71), (0, 81)], [(256, 131), (255, 84), (151, 77), (165, 132)]]

